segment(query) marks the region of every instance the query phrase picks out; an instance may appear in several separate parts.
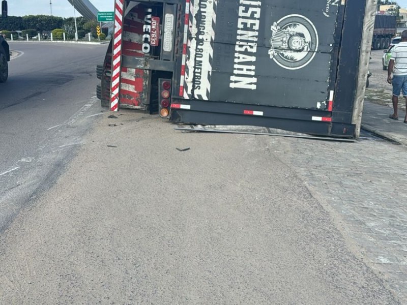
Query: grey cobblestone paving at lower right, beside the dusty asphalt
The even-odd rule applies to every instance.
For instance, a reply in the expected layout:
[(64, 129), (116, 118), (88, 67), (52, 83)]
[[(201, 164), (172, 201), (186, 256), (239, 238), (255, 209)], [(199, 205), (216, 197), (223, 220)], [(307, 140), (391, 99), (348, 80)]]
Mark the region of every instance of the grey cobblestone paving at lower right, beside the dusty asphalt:
[(356, 143), (272, 138), (342, 228), (355, 254), (407, 304), (407, 149), (370, 136)]

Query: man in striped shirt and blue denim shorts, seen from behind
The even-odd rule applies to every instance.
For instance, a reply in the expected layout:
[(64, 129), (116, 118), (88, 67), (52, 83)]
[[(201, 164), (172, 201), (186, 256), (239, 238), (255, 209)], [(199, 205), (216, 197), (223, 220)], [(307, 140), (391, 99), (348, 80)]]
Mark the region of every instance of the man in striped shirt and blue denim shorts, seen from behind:
[[(393, 72), (393, 78), (391, 73)], [(387, 82), (393, 85), (393, 109), (394, 113), (389, 117), (398, 120), (397, 106), (398, 96), (402, 90), (407, 106), (407, 30), (401, 33), (401, 42), (393, 47), (389, 68), (387, 69)], [(407, 112), (404, 117), (404, 123), (407, 123)]]

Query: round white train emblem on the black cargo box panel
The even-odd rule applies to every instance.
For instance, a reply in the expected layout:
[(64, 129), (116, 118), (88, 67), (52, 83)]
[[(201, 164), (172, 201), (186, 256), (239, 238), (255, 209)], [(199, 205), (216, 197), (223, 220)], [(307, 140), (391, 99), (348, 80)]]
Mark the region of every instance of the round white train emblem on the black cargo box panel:
[(271, 26), (270, 58), (284, 69), (307, 66), (318, 49), (318, 33), (312, 22), (301, 15), (288, 15)]

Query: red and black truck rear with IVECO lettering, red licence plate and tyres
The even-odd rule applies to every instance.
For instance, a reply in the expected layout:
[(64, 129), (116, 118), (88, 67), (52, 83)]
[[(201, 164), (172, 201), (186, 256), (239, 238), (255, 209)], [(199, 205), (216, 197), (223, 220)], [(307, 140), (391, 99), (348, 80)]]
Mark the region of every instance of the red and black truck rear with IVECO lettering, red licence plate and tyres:
[[(162, 95), (156, 94), (160, 83), (165, 81), (165, 92), (169, 92), (171, 87), (175, 66), (176, 20), (177, 15), (181, 14), (181, 6), (175, 1), (125, 3), (120, 107), (156, 113), (163, 99)], [(103, 66), (99, 66), (98, 70), (101, 84), (97, 87), (97, 93), (104, 107), (108, 107), (110, 101), (113, 39)], [(164, 97), (166, 95), (164, 93)]]

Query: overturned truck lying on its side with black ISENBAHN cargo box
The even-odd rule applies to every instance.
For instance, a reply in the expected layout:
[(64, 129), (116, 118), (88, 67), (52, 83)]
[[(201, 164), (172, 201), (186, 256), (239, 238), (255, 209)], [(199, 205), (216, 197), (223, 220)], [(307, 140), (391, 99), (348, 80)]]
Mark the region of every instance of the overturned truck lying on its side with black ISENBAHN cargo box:
[(173, 123), (359, 135), (375, 0), (115, 0), (98, 97)]

